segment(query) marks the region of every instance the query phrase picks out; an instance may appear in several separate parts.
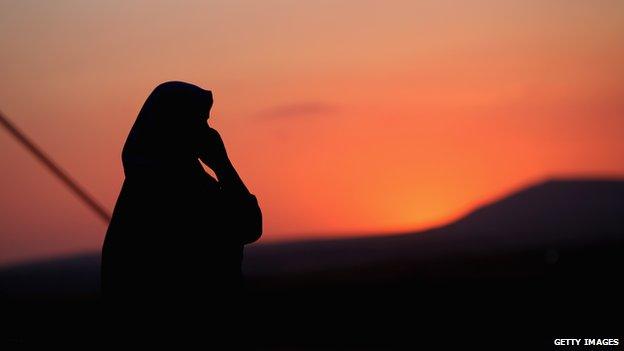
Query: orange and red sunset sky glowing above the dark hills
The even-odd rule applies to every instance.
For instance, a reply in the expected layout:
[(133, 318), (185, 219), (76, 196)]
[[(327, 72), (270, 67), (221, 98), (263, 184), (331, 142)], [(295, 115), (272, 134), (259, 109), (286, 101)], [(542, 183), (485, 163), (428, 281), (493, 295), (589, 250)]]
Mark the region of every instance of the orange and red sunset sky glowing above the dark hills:
[[(624, 176), (624, 2), (0, 0), (0, 110), (107, 208), (160, 82), (211, 89), (262, 241), (423, 229)], [(0, 130), (0, 264), (106, 226)]]

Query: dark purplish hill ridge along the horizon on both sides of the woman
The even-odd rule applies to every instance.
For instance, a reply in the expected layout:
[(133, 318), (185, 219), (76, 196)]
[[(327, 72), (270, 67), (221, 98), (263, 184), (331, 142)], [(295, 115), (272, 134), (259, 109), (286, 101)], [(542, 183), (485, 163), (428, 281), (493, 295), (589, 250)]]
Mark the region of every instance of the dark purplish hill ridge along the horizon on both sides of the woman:
[[(624, 181), (549, 180), (446, 226), (402, 235), (246, 249), (252, 286), (388, 280), (500, 279), (612, 270), (624, 243)], [(606, 261), (605, 261), (606, 260)], [(565, 267), (565, 268), (561, 268)], [(548, 275), (546, 275), (548, 276)], [(0, 272), (0, 293), (96, 294), (99, 254)]]

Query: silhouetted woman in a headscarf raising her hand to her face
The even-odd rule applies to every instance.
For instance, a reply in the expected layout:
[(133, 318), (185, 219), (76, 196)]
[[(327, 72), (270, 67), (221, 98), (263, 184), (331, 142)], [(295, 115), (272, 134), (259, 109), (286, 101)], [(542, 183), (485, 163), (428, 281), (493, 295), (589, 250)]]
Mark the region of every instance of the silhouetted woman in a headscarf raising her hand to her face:
[(208, 90), (167, 82), (139, 112), (102, 250), (106, 298), (203, 298), (240, 288), (243, 245), (260, 237), (262, 215), (208, 126), (212, 103)]

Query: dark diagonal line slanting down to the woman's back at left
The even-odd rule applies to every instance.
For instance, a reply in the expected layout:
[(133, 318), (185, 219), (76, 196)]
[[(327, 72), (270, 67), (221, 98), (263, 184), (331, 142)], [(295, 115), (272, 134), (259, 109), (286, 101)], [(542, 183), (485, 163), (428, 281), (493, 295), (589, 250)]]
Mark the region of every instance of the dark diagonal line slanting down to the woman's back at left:
[(46, 153), (35, 145), (23, 132), (0, 111), (0, 125), (2, 125), (17, 141), (22, 144), (30, 153), (41, 162), (54, 176), (56, 176), (63, 184), (69, 188), (74, 195), (92, 210), (105, 223), (110, 222), (111, 215), (93, 196), (86, 192), (69, 174), (57, 165)]

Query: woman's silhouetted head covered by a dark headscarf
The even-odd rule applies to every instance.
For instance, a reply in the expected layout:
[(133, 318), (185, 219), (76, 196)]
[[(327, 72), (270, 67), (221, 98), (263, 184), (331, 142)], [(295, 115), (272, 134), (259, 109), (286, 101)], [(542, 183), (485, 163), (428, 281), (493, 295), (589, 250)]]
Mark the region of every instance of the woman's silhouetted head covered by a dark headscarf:
[(163, 169), (197, 160), (212, 92), (185, 82), (162, 83), (149, 95), (132, 126), (122, 159), (128, 172)]

